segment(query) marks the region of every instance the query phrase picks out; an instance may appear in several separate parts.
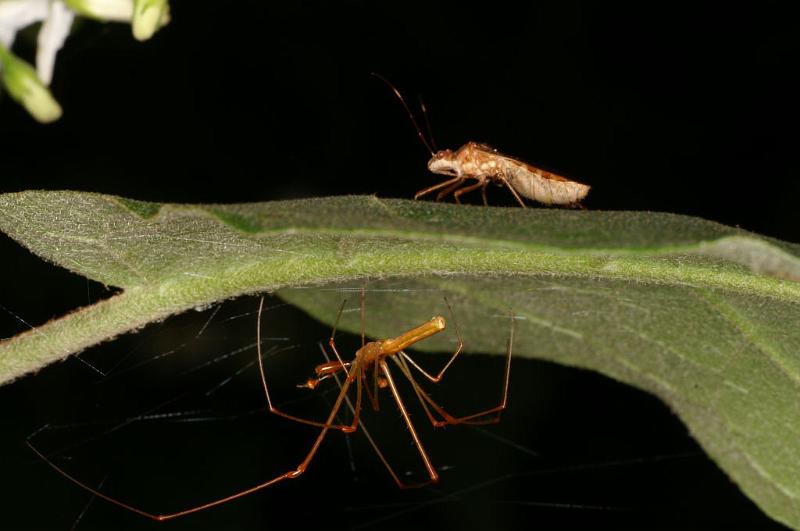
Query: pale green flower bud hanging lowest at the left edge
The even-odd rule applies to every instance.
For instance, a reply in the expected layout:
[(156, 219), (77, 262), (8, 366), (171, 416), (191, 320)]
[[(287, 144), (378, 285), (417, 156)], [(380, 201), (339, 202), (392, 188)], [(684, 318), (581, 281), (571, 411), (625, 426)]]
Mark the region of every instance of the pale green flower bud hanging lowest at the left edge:
[(3, 83), (12, 98), (21, 103), (31, 116), (42, 123), (61, 118), (61, 106), (36, 75), (31, 65), (14, 56), (0, 44)]

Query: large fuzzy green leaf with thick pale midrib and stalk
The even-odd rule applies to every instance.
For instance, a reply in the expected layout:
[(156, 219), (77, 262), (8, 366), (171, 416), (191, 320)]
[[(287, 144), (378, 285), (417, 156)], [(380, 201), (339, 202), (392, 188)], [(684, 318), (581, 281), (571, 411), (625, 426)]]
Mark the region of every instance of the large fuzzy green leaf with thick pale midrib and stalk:
[[(800, 527), (797, 245), (670, 214), (375, 197), (158, 205), (23, 192), (0, 195), (0, 230), (123, 288), (0, 343), (0, 382), (245, 293), (281, 290), (331, 323), (342, 293), (296, 288), (370, 279), (370, 336), (448, 317), (446, 295), (466, 350), (502, 354), (513, 313), (516, 356), (656, 394), (762, 509)], [(358, 314), (340, 327), (357, 331)], [(439, 336), (419, 347), (452, 349), (454, 334)]]

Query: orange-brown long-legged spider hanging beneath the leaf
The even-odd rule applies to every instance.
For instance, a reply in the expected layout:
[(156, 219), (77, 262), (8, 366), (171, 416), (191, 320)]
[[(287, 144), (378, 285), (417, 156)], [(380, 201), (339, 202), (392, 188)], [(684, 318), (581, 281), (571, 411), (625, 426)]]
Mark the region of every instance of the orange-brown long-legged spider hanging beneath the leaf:
[[(436, 469), (434, 468), (430, 457), (428, 457), (428, 454), (425, 451), (425, 448), (422, 445), (419, 436), (417, 435), (417, 430), (415, 429), (414, 424), (411, 422), (408, 410), (406, 409), (403, 399), (401, 398), (400, 393), (398, 392), (394, 376), (389, 367), (389, 364), (387, 363), (387, 360), (392, 360), (392, 362), (394, 362), (394, 364), (399, 369), (400, 373), (402, 373), (403, 376), (405, 376), (409, 380), (417, 398), (420, 401), (420, 404), (422, 405), (423, 410), (425, 411), (428, 419), (433, 424), (433, 426), (440, 427), (452, 424), (489, 424), (498, 422), (500, 420), (500, 415), (506, 409), (506, 404), (508, 402), (508, 384), (511, 375), (511, 350), (514, 341), (514, 329), (515, 329), (514, 316), (513, 315), (511, 316), (512, 317), (511, 333), (506, 353), (503, 393), (500, 403), (497, 406), (485, 409), (483, 411), (478, 411), (477, 413), (472, 413), (470, 415), (462, 417), (454, 417), (453, 415), (445, 411), (436, 402), (434, 402), (430, 396), (428, 396), (428, 394), (422, 389), (422, 387), (414, 378), (414, 375), (412, 374), (412, 369), (418, 371), (419, 374), (421, 374), (423, 377), (425, 377), (427, 380), (433, 383), (438, 383), (439, 381), (441, 381), (445, 375), (445, 372), (452, 365), (452, 363), (461, 353), (461, 350), (463, 348), (463, 341), (461, 340), (461, 335), (458, 332), (458, 328), (456, 327), (458, 346), (455, 352), (449, 357), (447, 363), (444, 364), (442, 369), (438, 373), (436, 373), (436, 375), (433, 375), (425, 371), (420, 365), (418, 365), (417, 362), (414, 361), (414, 359), (412, 359), (411, 356), (409, 356), (405, 352), (405, 349), (414, 345), (419, 341), (422, 341), (434, 334), (438, 334), (439, 332), (444, 330), (446, 327), (444, 317), (442, 316), (432, 317), (430, 320), (422, 323), (421, 325), (412, 328), (394, 338), (366, 342), (364, 334), (364, 302), (363, 302), (364, 291), (363, 290), (362, 290), (361, 300), (362, 300), (361, 348), (359, 348), (356, 351), (353, 360), (346, 362), (342, 359), (341, 355), (339, 354), (336, 348), (336, 342), (334, 340), (334, 337), (336, 335), (336, 328), (338, 326), (339, 319), (341, 318), (342, 311), (344, 310), (345, 307), (346, 303), (345, 301), (342, 303), (342, 306), (339, 309), (339, 314), (336, 318), (336, 323), (334, 324), (334, 327), (332, 329), (331, 337), (328, 340), (328, 345), (330, 346), (331, 350), (333, 350), (333, 353), (336, 356), (336, 360), (327, 361), (325, 363), (317, 365), (314, 369), (315, 377), (310, 378), (305, 383), (300, 384), (298, 386), (298, 387), (306, 387), (309, 389), (315, 389), (322, 381), (328, 378), (333, 377), (336, 379), (337, 384), (340, 387), (339, 394), (325, 421), (318, 422), (314, 420), (297, 417), (289, 413), (285, 413), (282, 410), (275, 407), (272, 402), (272, 396), (270, 395), (269, 392), (269, 386), (267, 384), (267, 378), (266, 378), (266, 371), (264, 369), (264, 363), (262, 360), (262, 353), (261, 353), (261, 314), (264, 307), (264, 298), (263, 297), (261, 298), (261, 302), (258, 307), (258, 325), (256, 328), (256, 338), (257, 338), (258, 367), (261, 377), (261, 383), (264, 389), (264, 394), (266, 395), (267, 399), (267, 407), (269, 411), (273, 414), (279, 415), (289, 420), (293, 420), (296, 422), (300, 422), (303, 424), (319, 428), (317, 436), (314, 438), (310, 449), (305, 454), (305, 457), (302, 459), (302, 461), (300, 461), (298, 465), (290, 468), (288, 471), (274, 478), (268, 479), (262, 483), (240, 490), (228, 496), (216, 500), (211, 500), (194, 507), (189, 507), (187, 509), (171, 513), (156, 514), (145, 511), (138, 507), (134, 507), (133, 505), (120, 501), (116, 498), (113, 498), (107, 494), (104, 494), (100, 490), (87, 485), (86, 483), (72, 476), (68, 472), (61, 469), (58, 465), (53, 463), (51, 460), (49, 460), (41, 451), (39, 451), (36, 447), (34, 447), (30, 443), (30, 441), (28, 441), (27, 444), (31, 448), (31, 450), (33, 450), (33, 452), (35, 452), (42, 460), (44, 460), (53, 469), (55, 469), (56, 472), (66, 477), (76, 485), (82, 487), (86, 491), (94, 494), (95, 496), (103, 500), (113, 503), (114, 505), (117, 505), (123, 509), (127, 509), (128, 511), (132, 511), (136, 514), (139, 514), (141, 516), (156, 521), (172, 520), (181, 516), (197, 513), (206, 509), (210, 509), (212, 507), (216, 507), (218, 505), (222, 505), (223, 503), (227, 503), (237, 498), (242, 498), (254, 492), (265, 489), (269, 486), (275, 485), (276, 483), (280, 483), (284, 480), (295, 479), (300, 477), (308, 469), (309, 465), (314, 459), (314, 456), (317, 453), (317, 450), (320, 448), (320, 445), (325, 439), (325, 436), (331, 430), (338, 430), (344, 433), (353, 433), (358, 428), (361, 428), (361, 431), (367, 437), (367, 440), (369, 441), (370, 445), (377, 453), (378, 458), (387, 468), (389, 474), (392, 476), (397, 485), (401, 488), (419, 487), (430, 484), (432, 482), (436, 482), (439, 479), (438, 473), (436, 472)], [(447, 303), (447, 305), (449, 308), (450, 304)], [(450, 309), (450, 311), (452, 313), (452, 309)], [(344, 375), (343, 381), (339, 381), (338, 379), (338, 375), (340, 373), (343, 373)], [(350, 401), (348, 395), (348, 390), (350, 390), (351, 387), (353, 386), (355, 386), (356, 389), (355, 405), (353, 405), (353, 403)], [(362, 393), (365, 393), (367, 395), (368, 400), (372, 403), (373, 408), (377, 411), (378, 393), (381, 389), (385, 388), (388, 388), (390, 390), (392, 398), (394, 399), (395, 404), (397, 405), (397, 408), (399, 409), (400, 414), (403, 418), (403, 422), (405, 423), (406, 427), (408, 428), (411, 434), (411, 439), (413, 440), (414, 446), (416, 447), (417, 452), (419, 453), (419, 456), (428, 474), (427, 481), (417, 484), (404, 483), (400, 479), (400, 476), (391, 467), (389, 461), (384, 457), (383, 453), (378, 448), (378, 445), (375, 443), (374, 439), (370, 436), (369, 432), (366, 430), (366, 428), (364, 427), (363, 423), (360, 420)], [(339, 424), (335, 422), (337, 415), (339, 414), (344, 404), (347, 404), (348, 408), (351, 410), (353, 415), (353, 418), (349, 424)]]

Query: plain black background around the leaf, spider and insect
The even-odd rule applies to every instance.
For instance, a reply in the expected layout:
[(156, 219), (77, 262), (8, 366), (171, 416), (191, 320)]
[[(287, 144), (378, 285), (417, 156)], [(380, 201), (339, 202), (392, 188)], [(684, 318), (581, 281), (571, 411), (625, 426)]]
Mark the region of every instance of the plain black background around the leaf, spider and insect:
[[(58, 123), (39, 125), (0, 101), (0, 191), (170, 202), (408, 198), (436, 177), (399, 102), (370, 77), (375, 71), (412, 106), (424, 96), (440, 147), (488, 142), (590, 184), (590, 209), (676, 212), (800, 241), (800, 28), (788, 5), (182, 1), (144, 44), (127, 26), (86, 22), (57, 61), (52, 90), (65, 111)], [(15, 50), (31, 57), (25, 42)], [(490, 198), (506, 205), (507, 196), (498, 189)], [(2, 337), (26, 329), (10, 312), (36, 325), (110, 294), (8, 239), (0, 256)], [(229, 302), (219, 316), (256, 305)], [(154, 511), (294, 465), (313, 433), (245, 414), (263, 403), (252, 369), (215, 393), (224, 398), (202, 397), (246, 360), (180, 375), (253, 342), (253, 315), (228, 327), (215, 320), (195, 337), (209, 315), (180, 316), (82, 355), (114, 375), (187, 343), (181, 353), (191, 354), (177, 363), (156, 360), (110, 379), (73, 358), (0, 389), (11, 528), (70, 528), (89, 501), (24, 447), (46, 423), (100, 423), (45, 431), (36, 442), (45, 451), (66, 448), (59, 464), (94, 484), (108, 476), (109, 492)], [(306, 352), (286, 369), (289, 381), (301, 381), (328, 331), (288, 307), (271, 315), (277, 333)], [(481, 388), (499, 369), (494, 358), (463, 364), (458, 381)], [(447, 467), (443, 481), (400, 492), (358, 437), (353, 472), (335, 434), (301, 479), (162, 527), (776, 525), (657, 400), (537, 362), (517, 363), (514, 383), (511, 410), (489, 433), (538, 456), (483, 432), (423, 430), (434, 461)], [(324, 414), (324, 400), (304, 403), (309, 414)], [(107, 433), (114, 419), (194, 410), (233, 418), (130, 422)], [(412, 450), (402, 429), (384, 437), (402, 441), (398, 455)], [(77, 524), (129, 527), (155, 524), (100, 501)]]

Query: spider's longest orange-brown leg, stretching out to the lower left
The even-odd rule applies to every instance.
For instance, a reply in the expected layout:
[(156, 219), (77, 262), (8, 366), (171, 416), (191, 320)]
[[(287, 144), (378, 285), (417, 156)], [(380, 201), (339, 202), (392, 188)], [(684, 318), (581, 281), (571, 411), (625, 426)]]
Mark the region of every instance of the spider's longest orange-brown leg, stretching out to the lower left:
[[(356, 370), (360, 370), (361, 369), (360, 363), (357, 362), (354, 365), (356, 365), (356, 367), (355, 367)], [(348, 377), (345, 380), (344, 384), (342, 385), (342, 389), (339, 392), (339, 396), (336, 398), (336, 402), (333, 404), (333, 408), (331, 409), (331, 412), (328, 415), (328, 419), (325, 422), (325, 426), (320, 430), (319, 435), (317, 435), (317, 438), (314, 440), (314, 444), (311, 446), (311, 449), (306, 454), (306, 457), (300, 462), (299, 465), (297, 465), (297, 467), (295, 469), (289, 470), (288, 472), (284, 472), (283, 474), (281, 474), (279, 476), (276, 476), (276, 477), (274, 477), (274, 478), (272, 478), (272, 479), (270, 479), (268, 481), (264, 481), (263, 483), (259, 483), (258, 485), (255, 485), (253, 487), (250, 487), (250, 488), (235, 492), (234, 494), (231, 494), (229, 496), (225, 496), (223, 498), (218, 498), (216, 500), (212, 500), (212, 501), (204, 503), (202, 505), (197, 505), (195, 507), (190, 507), (188, 509), (184, 509), (182, 511), (177, 511), (177, 512), (174, 512), (174, 513), (167, 513), (167, 514), (149, 513), (147, 511), (139, 509), (138, 507), (134, 507), (133, 505), (128, 505), (127, 503), (124, 503), (124, 502), (122, 502), (120, 500), (117, 500), (116, 498), (112, 498), (111, 496), (109, 496), (107, 494), (104, 494), (104, 493), (100, 492), (99, 490), (97, 490), (97, 489), (95, 489), (93, 487), (90, 487), (89, 485), (87, 485), (86, 483), (84, 483), (81, 480), (77, 479), (76, 477), (68, 474), (66, 471), (64, 471), (61, 468), (59, 468), (58, 465), (56, 465), (55, 463), (50, 461), (47, 457), (45, 457), (45, 455), (42, 454), (39, 450), (37, 450), (30, 442), (27, 442), (27, 444), (28, 444), (28, 447), (31, 450), (33, 450), (34, 453), (36, 453), (36, 455), (38, 455), (45, 463), (50, 465), (50, 467), (52, 467), (56, 472), (58, 472), (59, 474), (61, 474), (65, 478), (67, 478), (68, 480), (72, 481), (73, 483), (75, 483), (79, 487), (83, 488), (84, 490), (94, 494), (98, 498), (106, 500), (109, 503), (113, 503), (114, 505), (116, 505), (118, 507), (121, 507), (123, 509), (127, 509), (127, 510), (129, 510), (131, 512), (134, 512), (134, 513), (136, 513), (138, 515), (144, 516), (144, 517), (149, 518), (151, 520), (155, 520), (157, 522), (163, 522), (165, 520), (172, 520), (172, 519), (178, 518), (180, 516), (186, 516), (187, 514), (193, 514), (193, 513), (197, 513), (197, 512), (206, 510), (206, 509), (210, 509), (212, 507), (216, 507), (217, 505), (222, 505), (223, 503), (227, 503), (229, 501), (232, 501), (232, 500), (235, 500), (235, 499), (238, 499), (238, 498), (242, 498), (244, 496), (247, 496), (249, 494), (257, 492), (259, 490), (265, 489), (265, 488), (267, 488), (267, 487), (269, 487), (271, 485), (274, 485), (276, 483), (279, 483), (279, 482), (281, 482), (281, 481), (283, 481), (285, 479), (294, 479), (294, 478), (297, 478), (300, 475), (302, 475), (303, 472), (305, 472), (308, 469), (308, 466), (311, 463), (312, 459), (314, 459), (314, 455), (316, 455), (317, 450), (319, 449), (320, 445), (322, 444), (322, 441), (325, 439), (325, 435), (328, 433), (328, 431), (330, 431), (329, 426), (333, 425), (333, 419), (336, 418), (336, 415), (339, 412), (339, 408), (341, 408), (342, 404), (344, 403), (344, 399), (347, 397), (347, 390), (350, 387), (350, 383), (351, 383), (351, 380)]]

